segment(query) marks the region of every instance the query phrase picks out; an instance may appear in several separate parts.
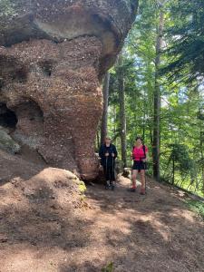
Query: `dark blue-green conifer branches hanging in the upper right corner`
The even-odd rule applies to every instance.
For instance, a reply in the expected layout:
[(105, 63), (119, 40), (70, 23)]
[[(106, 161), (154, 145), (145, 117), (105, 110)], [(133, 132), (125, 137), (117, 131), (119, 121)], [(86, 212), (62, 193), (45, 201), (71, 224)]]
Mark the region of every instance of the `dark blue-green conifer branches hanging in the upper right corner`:
[(171, 81), (192, 83), (204, 74), (204, 1), (170, 1), (170, 63), (162, 73)]

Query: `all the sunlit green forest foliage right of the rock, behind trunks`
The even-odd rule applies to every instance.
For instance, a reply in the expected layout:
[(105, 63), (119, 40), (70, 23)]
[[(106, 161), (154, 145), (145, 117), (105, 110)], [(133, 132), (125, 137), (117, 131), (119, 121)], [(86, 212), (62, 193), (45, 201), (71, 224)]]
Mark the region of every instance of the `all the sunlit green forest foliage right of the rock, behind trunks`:
[[(166, 33), (164, 44), (169, 45), (170, 50), (171, 47), (173, 48), (174, 42), (177, 42), (175, 40), (177, 30), (183, 28), (184, 31), (189, 27), (189, 24), (185, 21), (189, 20), (188, 16), (185, 17), (188, 6), (189, 12), (198, 8), (198, 3), (195, 4), (193, 1), (188, 1), (188, 5), (182, 6), (186, 2), (187, 0), (169, 0), (163, 6), (164, 31)], [(191, 9), (192, 6), (193, 9)], [(202, 12), (203, 9), (199, 10), (199, 15)], [(181, 16), (180, 13), (183, 13), (183, 15)], [(123, 64), (121, 67), (116, 65), (111, 71), (111, 97), (109, 100), (109, 131), (115, 139), (114, 143), (117, 145), (120, 153), (121, 142), (119, 137), (117, 137), (119, 131), (117, 73), (122, 71), (125, 85), (127, 157), (129, 158), (131, 154), (135, 136), (140, 134), (144, 138), (145, 144), (149, 147), (150, 166), (153, 131), (153, 94), (156, 73), (155, 45), (159, 15), (160, 6), (158, 1), (141, 0), (139, 14), (123, 48)], [(198, 20), (199, 23), (203, 18), (199, 16)], [(196, 26), (197, 28), (198, 25)], [(195, 25), (191, 26), (195, 27)], [(169, 29), (172, 29), (171, 33)], [(175, 33), (173, 33), (174, 29)], [(186, 31), (184, 33), (185, 37), (188, 37)], [(193, 28), (192, 33), (194, 34)], [(172, 54), (163, 53), (161, 55), (161, 65), (163, 67), (168, 66), (172, 59), (174, 61), (179, 59), (179, 54), (171, 52)], [(192, 49), (192, 53), (200, 52), (196, 48), (195, 50)], [(188, 58), (188, 51), (183, 56)], [(192, 61), (186, 63), (185, 68), (180, 68), (181, 70), (176, 72), (175, 77), (171, 77), (171, 80), (168, 77), (170, 73), (160, 76), (160, 173), (163, 180), (168, 182), (173, 180), (173, 183), (178, 186), (203, 196), (204, 92), (203, 86), (199, 86), (200, 79), (199, 81), (194, 80), (194, 83), (190, 84), (185, 80), (185, 77), (189, 78), (190, 73), (193, 71), (191, 64), (193, 64), (194, 59), (195, 55)], [(183, 76), (181, 78), (180, 73)], [(173, 160), (174, 165), (172, 163)], [(128, 162), (130, 166), (131, 160)], [(149, 174), (151, 174), (151, 168)]]

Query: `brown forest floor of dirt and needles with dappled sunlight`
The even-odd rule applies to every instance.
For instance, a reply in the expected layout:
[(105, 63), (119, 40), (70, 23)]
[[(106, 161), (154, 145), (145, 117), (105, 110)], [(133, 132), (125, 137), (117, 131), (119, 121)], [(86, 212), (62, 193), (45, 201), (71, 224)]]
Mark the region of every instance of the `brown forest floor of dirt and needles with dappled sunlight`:
[(119, 177), (83, 197), (68, 171), (31, 157), (0, 151), (1, 272), (204, 271), (204, 222), (180, 190), (148, 179), (141, 196)]

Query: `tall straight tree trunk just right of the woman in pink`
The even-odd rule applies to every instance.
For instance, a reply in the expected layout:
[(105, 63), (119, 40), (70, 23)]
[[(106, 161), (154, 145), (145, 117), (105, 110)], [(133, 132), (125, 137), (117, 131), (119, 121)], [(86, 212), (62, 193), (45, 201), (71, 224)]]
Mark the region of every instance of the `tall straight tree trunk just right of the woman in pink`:
[(160, 181), (160, 83), (159, 83), (159, 68), (160, 68), (160, 49), (162, 43), (164, 25), (164, 15), (160, 9), (160, 24), (156, 42), (156, 58), (155, 58), (155, 88), (154, 88), (154, 121), (153, 121), (153, 176)]

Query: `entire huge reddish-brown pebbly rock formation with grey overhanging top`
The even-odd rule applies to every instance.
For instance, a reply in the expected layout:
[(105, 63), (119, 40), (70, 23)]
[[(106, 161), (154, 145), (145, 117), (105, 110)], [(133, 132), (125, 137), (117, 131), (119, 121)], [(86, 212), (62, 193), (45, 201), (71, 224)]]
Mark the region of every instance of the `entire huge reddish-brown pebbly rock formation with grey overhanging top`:
[(85, 180), (97, 174), (100, 81), (136, 7), (137, 0), (0, 4), (0, 125), (13, 126), (15, 140)]

